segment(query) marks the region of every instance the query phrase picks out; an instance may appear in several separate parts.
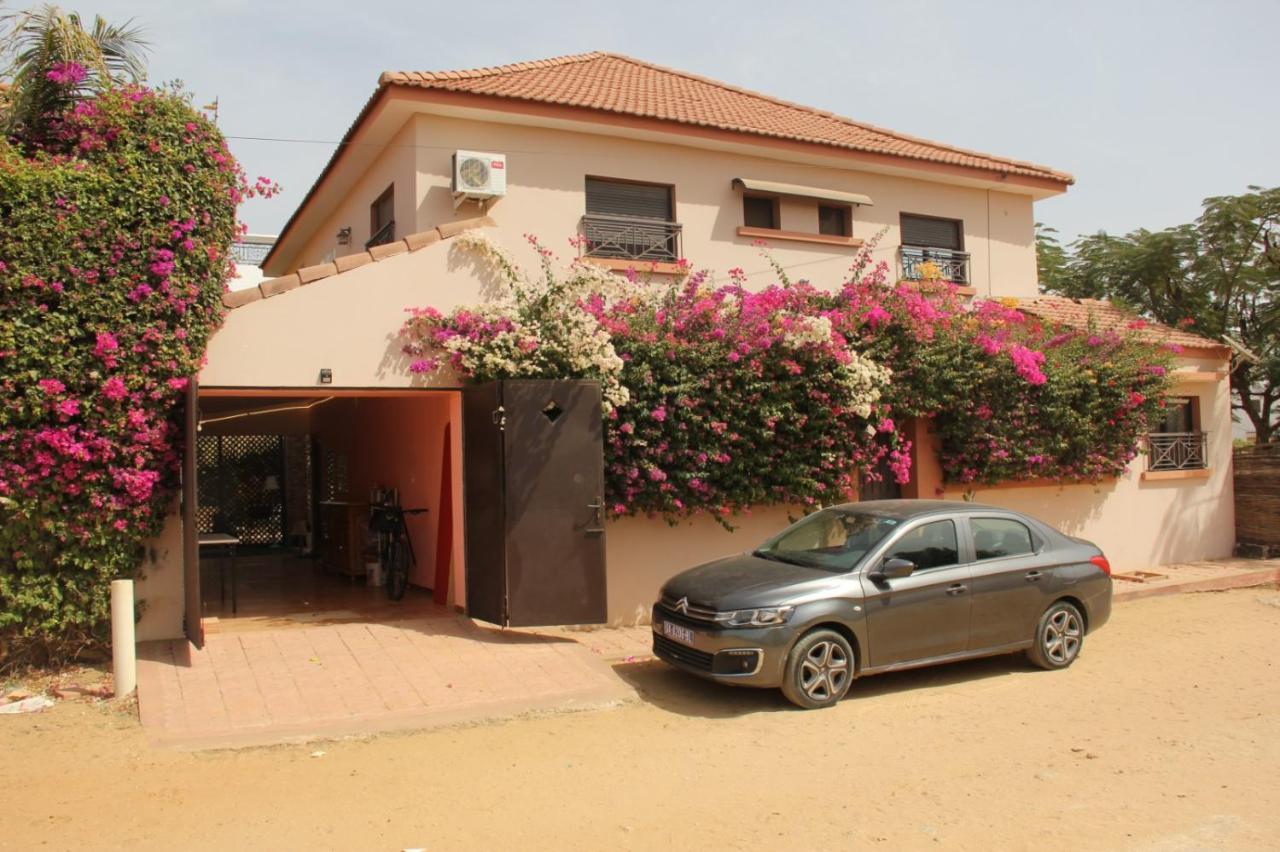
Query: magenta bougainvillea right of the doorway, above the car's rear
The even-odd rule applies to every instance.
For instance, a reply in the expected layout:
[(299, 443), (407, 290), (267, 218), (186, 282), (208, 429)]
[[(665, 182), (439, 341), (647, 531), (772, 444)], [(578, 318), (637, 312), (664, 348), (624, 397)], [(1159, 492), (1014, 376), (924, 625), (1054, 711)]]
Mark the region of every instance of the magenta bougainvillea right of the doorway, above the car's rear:
[[(1139, 321), (1140, 322), (1140, 321)], [(922, 348), (947, 482), (1121, 476), (1161, 418), (1171, 352), (1135, 334), (1047, 325), (979, 302)]]

